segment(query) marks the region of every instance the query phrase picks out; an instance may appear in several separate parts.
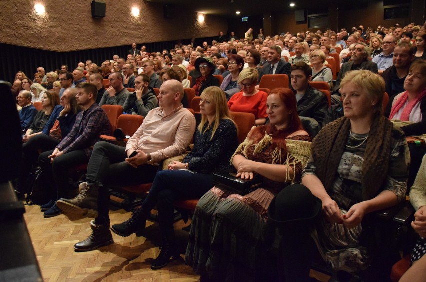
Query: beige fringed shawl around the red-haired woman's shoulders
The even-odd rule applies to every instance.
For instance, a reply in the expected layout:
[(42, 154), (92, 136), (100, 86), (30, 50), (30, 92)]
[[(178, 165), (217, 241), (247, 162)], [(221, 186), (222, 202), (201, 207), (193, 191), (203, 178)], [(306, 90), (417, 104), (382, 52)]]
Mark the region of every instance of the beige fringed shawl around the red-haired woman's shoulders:
[[(254, 144), (254, 141), (247, 137), (244, 142), (242, 142), (238, 148), (236, 149), (235, 153), (232, 155), (230, 159), (230, 163), (232, 164), (233, 157), (237, 154), (242, 154), (245, 158), (249, 159), (248, 157), (248, 148), (250, 146), (254, 146), (254, 152), (253, 154), (261, 153), (262, 150), (267, 147), (268, 145), (271, 145), (273, 143), (272, 134), (268, 135), (265, 133), (264, 137), (256, 144)], [(272, 163), (271, 164), (283, 164), (283, 165), (294, 165), (301, 163), (302, 167), (306, 166), (307, 160), (310, 156), (310, 145), (311, 142), (308, 141), (301, 141), (301, 140), (292, 140), (292, 139), (286, 139), (285, 144), (287, 146), (287, 152), (285, 155), (285, 159), (282, 159), (282, 152), (285, 153), (281, 148), (275, 147), (275, 149), (272, 152)], [(291, 161), (291, 159), (293, 159)], [(293, 177), (290, 177), (289, 169), (286, 170), (287, 174), (285, 175), (285, 182), (288, 182), (291, 180), (291, 183), (294, 182), (294, 179), (296, 177), (295, 173), (293, 173)]]

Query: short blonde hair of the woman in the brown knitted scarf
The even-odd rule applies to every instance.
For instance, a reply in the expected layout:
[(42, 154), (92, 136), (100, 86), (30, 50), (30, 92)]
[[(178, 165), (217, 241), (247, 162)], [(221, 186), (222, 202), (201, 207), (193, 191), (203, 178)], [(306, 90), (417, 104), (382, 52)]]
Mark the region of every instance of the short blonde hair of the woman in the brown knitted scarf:
[(343, 88), (348, 82), (352, 82), (355, 86), (364, 89), (371, 101), (377, 100), (377, 103), (373, 105), (375, 114), (383, 113), (382, 103), (386, 87), (381, 76), (369, 70), (352, 70), (346, 72), (340, 82), (340, 88)]

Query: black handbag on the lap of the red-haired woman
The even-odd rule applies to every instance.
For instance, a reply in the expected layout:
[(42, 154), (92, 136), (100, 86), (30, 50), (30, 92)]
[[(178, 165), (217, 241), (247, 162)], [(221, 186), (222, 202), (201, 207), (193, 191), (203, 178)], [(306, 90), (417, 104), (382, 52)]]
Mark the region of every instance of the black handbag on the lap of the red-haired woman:
[(231, 190), (241, 196), (254, 191), (262, 183), (258, 176), (255, 176), (252, 180), (245, 180), (237, 178), (236, 173), (233, 172), (217, 172), (213, 173), (212, 176), (214, 185)]

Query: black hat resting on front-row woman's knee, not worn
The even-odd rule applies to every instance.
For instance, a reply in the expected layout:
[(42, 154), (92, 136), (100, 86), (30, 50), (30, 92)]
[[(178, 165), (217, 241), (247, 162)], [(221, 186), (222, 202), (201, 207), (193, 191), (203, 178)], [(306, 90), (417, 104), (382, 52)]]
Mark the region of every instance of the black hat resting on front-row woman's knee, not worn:
[(280, 191), (268, 208), (268, 219), (276, 224), (310, 224), (320, 214), (322, 201), (303, 185), (293, 184)]

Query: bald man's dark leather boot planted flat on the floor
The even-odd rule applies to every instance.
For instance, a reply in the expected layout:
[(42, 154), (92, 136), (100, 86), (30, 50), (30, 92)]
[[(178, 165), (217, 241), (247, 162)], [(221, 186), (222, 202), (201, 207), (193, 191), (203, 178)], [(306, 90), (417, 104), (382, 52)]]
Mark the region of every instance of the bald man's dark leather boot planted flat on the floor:
[(109, 231), (109, 224), (96, 224), (95, 221), (92, 220), (90, 222), (90, 227), (93, 230), (90, 236), (84, 241), (74, 245), (74, 250), (76, 252), (94, 250), (114, 242), (111, 231)]

